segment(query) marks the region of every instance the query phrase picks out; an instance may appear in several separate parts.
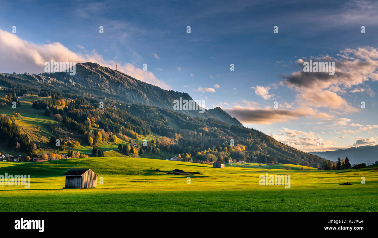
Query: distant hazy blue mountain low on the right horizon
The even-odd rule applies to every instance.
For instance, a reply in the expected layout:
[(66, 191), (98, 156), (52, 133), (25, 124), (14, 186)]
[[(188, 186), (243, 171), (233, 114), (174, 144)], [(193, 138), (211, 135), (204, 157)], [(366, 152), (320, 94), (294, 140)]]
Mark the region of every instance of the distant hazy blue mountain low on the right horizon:
[(369, 160), (372, 163), (375, 163), (375, 161), (378, 160), (378, 145), (350, 147), (348, 149), (339, 149), (335, 151), (310, 152), (310, 154), (314, 154), (332, 161), (336, 161), (338, 157), (340, 157), (340, 159), (345, 159), (345, 157), (348, 157), (351, 164), (368, 164)]

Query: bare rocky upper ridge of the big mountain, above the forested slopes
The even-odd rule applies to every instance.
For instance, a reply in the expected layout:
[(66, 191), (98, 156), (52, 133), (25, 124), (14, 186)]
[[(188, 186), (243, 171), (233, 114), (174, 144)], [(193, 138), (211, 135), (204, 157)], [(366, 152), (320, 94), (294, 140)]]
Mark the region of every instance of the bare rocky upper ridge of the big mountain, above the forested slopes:
[[(174, 110), (175, 100), (180, 100), (180, 98), (188, 101), (193, 100), (187, 93), (164, 90), (122, 72), (91, 62), (77, 63), (74, 76), (69, 73), (44, 73), (42, 76), (49, 81), (54, 81), (55, 78), (58, 81), (65, 82), (65, 87), (69, 89), (79, 87), (85, 92), (98, 96), (105, 95), (107, 98), (116, 98), (128, 103), (157, 106), (169, 110)], [(63, 88), (62, 91), (65, 92)], [(197, 102), (194, 102), (194, 105), (197, 106)], [(198, 108), (200, 109), (200, 107)], [(177, 111), (189, 116), (203, 119), (215, 118), (230, 125), (243, 126), (235, 117), (231, 117), (219, 107), (211, 110), (205, 109), (203, 113), (200, 113), (200, 110)]]

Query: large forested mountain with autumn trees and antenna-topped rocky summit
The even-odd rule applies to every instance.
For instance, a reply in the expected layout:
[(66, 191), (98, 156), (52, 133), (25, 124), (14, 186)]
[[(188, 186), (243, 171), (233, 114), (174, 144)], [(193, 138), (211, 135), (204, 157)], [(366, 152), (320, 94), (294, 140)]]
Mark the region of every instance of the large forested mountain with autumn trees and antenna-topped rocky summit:
[[(0, 107), (6, 108), (0, 108), (5, 112), (0, 112), (0, 148), (5, 145), (30, 157), (56, 150), (56, 139), (61, 142), (58, 149), (67, 152), (65, 146), (71, 150), (106, 144), (120, 148), (116, 142), (120, 138), (122, 143), (137, 142), (140, 152), (151, 157), (181, 154), (194, 161), (236, 159), (312, 167), (327, 164), (319, 156), (243, 127), (219, 107), (204, 113), (174, 110), (174, 100), (191, 97), (99, 64), (79, 63), (74, 76), (65, 72), (0, 74), (0, 86), (0, 101), (5, 104)], [(12, 110), (12, 101), (19, 113)], [(99, 107), (101, 101), (103, 108)], [(37, 124), (31, 123), (36, 120)], [(153, 141), (152, 136), (156, 138)], [(142, 145), (145, 138), (149, 142)], [(119, 151), (127, 155), (124, 149)], [(134, 155), (135, 151), (130, 153)]]

